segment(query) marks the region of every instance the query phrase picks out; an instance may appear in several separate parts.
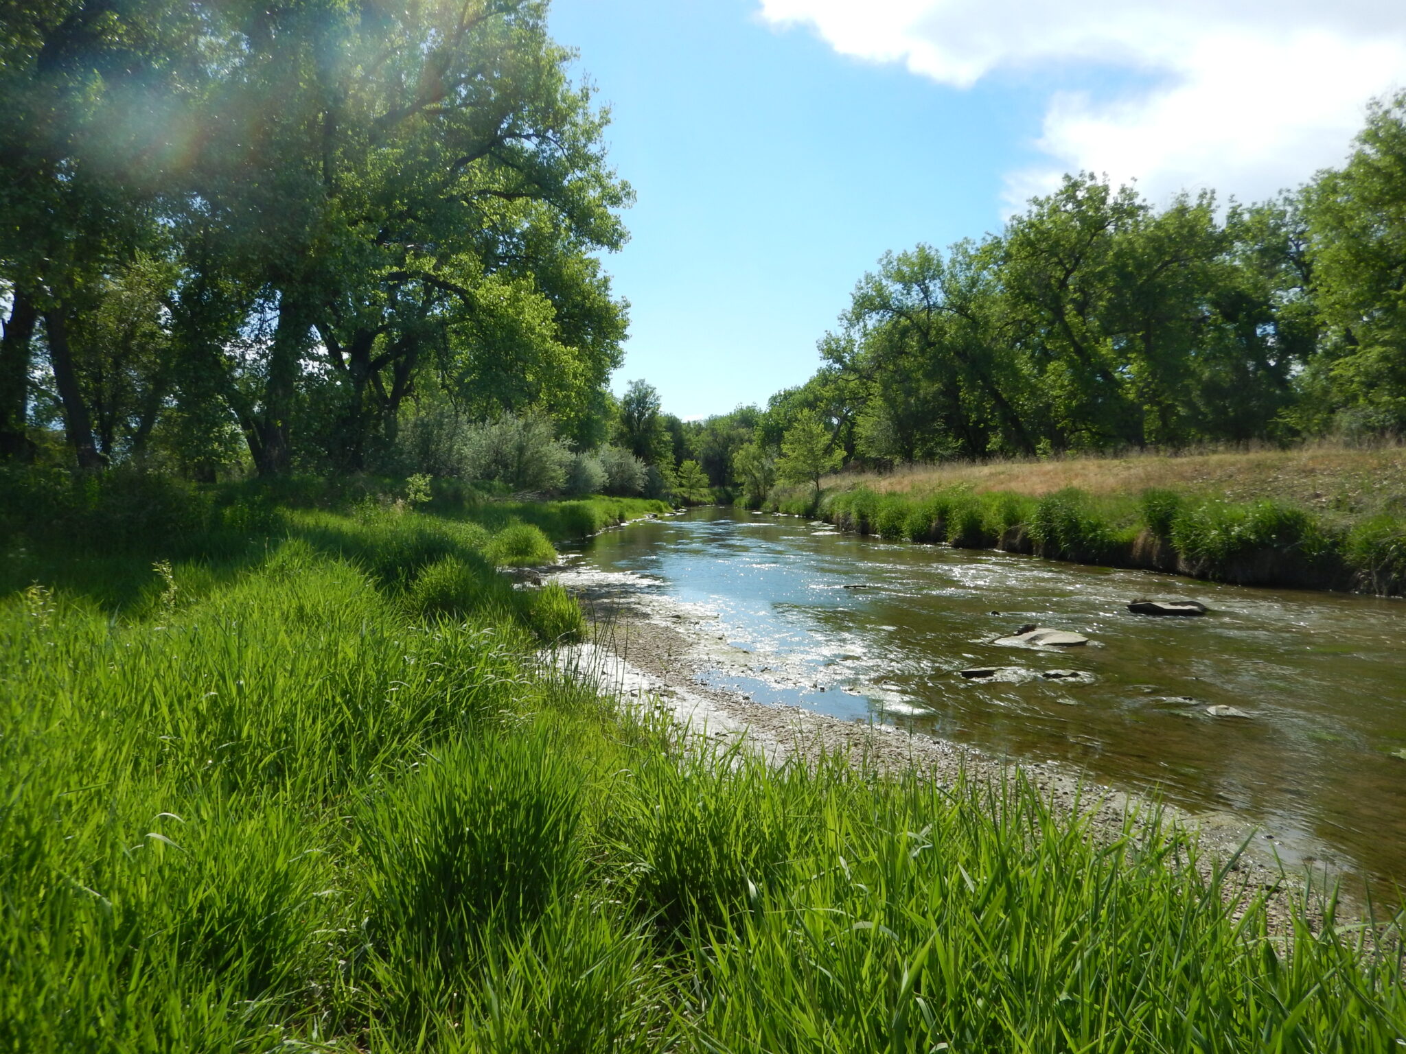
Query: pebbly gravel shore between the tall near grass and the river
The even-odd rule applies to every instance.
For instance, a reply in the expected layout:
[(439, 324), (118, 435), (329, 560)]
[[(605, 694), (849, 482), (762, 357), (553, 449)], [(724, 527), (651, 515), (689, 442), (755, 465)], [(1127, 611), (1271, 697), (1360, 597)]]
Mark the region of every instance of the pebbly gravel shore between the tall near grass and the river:
[[(1211, 881), (1218, 868), (1229, 867), (1227, 899), (1240, 904), (1246, 895), (1264, 897), (1268, 930), (1281, 939), (1291, 932), (1292, 920), (1302, 918), (1303, 905), (1313, 905), (1341, 877), (1322, 866), (1286, 866), (1275, 832), (1232, 812), (1189, 812), (1099, 784), (1056, 760), (1022, 763), (891, 724), (845, 721), (799, 705), (756, 701), (751, 693), (727, 684), (769, 682), (782, 689), (796, 687), (804, 673), (787, 669), (775, 655), (730, 645), (717, 632), (716, 613), (651, 590), (636, 576), (567, 562), (554, 578), (579, 596), (592, 616), (589, 641), (558, 656), (564, 668), (600, 683), (605, 691), (631, 705), (652, 707), (679, 728), (717, 743), (742, 746), (769, 765), (842, 759), (890, 777), (917, 774), (941, 787), (1019, 780), (1063, 821), (1078, 819), (1105, 845), (1126, 835), (1129, 819), (1135, 826), (1167, 824), (1195, 843), (1195, 868), (1204, 881)], [(1322, 922), (1320, 906), (1310, 909), (1316, 925)], [(1355, 904), (1344, 913), (1361, 909)]]

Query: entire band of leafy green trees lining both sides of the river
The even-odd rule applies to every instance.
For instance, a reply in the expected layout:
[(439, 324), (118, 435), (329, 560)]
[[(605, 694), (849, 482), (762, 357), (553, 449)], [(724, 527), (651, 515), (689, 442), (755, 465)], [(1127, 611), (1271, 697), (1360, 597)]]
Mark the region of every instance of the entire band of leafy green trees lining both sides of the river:
[(759, 500), (846, 462), (1406, 427), (1406, 93), (1267, 202), (1078, 174), (887, 254), (766, 408), (616, 398), (631, 191), (546, 8), (7, 8), (0, 460)]

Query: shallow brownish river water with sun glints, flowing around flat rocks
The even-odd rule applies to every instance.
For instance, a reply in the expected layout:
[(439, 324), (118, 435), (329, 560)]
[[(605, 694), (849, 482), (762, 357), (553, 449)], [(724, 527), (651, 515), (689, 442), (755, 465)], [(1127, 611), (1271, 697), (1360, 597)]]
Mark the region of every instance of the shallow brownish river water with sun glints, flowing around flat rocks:
[[(1241, 589), (1001, 552), (886, 542), (796, 517), (697, 509), (606, 531), (603, 572), (718, 616), (754, 659), (720, 684), (1015, 760), (1062, 760), (1263, 826), (1285, 863), (1406, 885), (1406, 604)], [(1201, 618), (1133, 616), (1192, 597)], [(1081, 648), (995, 645), (1024, 624)], [(959, 670), (1000, 666), (1007, 680)], [(1046, 680), (1047, 670), (1078, 676)], [(1212, 717), (1229, 705), (1247, 717)]]

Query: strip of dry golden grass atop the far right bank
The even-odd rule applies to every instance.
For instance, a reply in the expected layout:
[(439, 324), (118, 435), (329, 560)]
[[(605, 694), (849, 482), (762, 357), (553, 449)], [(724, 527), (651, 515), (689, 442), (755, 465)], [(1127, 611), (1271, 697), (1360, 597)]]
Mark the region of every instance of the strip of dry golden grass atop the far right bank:
[(1038, 497), (1077, 486), (1092, 495), (1170, 488), (1230, 502), (1275, 497), (1348, 516), (1406, 510), (1406, 447), (1306, 445), (1204, 454), (1135, 454), (915, 465), (889, 474), (845, 474), (841, 488), (928, 492), (967, 485)]

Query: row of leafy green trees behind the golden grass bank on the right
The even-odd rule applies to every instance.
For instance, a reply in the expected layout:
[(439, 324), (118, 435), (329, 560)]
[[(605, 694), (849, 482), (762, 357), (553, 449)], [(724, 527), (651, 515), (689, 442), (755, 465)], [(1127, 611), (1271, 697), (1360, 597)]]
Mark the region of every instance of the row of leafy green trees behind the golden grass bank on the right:
[(1267, 202), (1156, 208), (1083, 173), (980, 242), (886, 254), (814, 377), (699, 426), (738, 433), (704, 464), (754, 496), (801, 482), (785, 437), (813, 447), (817, 423), (863, 467), (1400, 437), (1403, 289), (1406, 93), (1369, 105), (1343, 167)]

